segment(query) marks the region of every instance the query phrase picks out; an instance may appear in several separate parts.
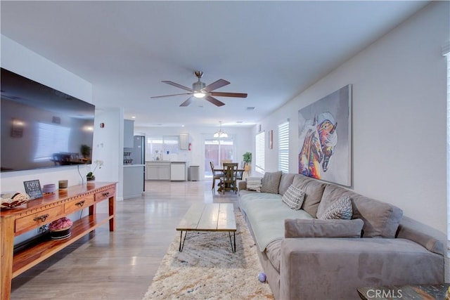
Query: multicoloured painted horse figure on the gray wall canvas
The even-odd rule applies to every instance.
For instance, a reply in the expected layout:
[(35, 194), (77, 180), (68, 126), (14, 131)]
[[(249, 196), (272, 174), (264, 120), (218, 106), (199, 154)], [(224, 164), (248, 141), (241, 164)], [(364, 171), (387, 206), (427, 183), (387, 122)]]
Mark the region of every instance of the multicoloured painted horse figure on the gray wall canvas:
[(338, 143), (335, 118), (330, 112), (322, 112), (304, 125), (302, 150), (299, 156), (299, 173), (312, 178), (321, 178), (326, 172)]

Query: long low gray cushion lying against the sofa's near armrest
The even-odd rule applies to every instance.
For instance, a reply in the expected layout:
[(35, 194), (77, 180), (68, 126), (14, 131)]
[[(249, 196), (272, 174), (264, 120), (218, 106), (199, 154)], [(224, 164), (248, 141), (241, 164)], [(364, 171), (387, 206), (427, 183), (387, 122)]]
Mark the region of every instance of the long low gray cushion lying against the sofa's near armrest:
[(361, 219), (285, 219), (284, 237), (361, 237), (363, 226)]

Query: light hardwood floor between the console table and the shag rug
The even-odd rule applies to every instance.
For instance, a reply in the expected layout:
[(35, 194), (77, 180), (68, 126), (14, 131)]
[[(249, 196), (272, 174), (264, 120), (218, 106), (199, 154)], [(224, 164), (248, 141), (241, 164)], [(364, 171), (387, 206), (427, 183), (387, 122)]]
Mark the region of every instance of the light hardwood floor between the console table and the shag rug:
[(237, 208), (237, 200), (213, 192), (207, 180), (147, 181), (142, 197), (117, 202), (114, 233), (101, 226), (14, 278), (11, 299), (142, 299), (191, 204)]

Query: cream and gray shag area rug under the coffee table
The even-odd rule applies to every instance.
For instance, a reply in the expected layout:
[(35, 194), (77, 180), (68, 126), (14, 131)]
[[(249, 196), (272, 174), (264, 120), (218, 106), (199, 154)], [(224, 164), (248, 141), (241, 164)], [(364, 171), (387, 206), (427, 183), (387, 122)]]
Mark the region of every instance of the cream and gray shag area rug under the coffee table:
[(195, 231), (179, 252), (177, 231), (143, 299), (274, 299), (269, 284), (258, 280), (263, 269), (257, 247), (240, 211), (235, 213), (236, 253), (228, 232)]

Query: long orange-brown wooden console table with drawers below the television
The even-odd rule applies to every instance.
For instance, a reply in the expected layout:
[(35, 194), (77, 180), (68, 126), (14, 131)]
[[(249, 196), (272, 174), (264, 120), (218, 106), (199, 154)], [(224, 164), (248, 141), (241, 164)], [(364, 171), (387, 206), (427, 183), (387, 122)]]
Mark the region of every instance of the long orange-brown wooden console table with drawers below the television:
[[(109, 221), (110, 231), (115, 229), (116, 183), (88, 183), (74, 185), (56, 193), (30, 200), (16, 209), (0, 211), (1, 236), (1, 300), (11, 296), (11, 280), (36, 266), (44, 259), (76, 242), (81, 237)], [(96, 204), (108, 200), (108, 214), (97, 214)], [(65, 240), (44, 240), (32, 247), (14, 253), (14, 237), (44, 226), (51, 221), (89, 207), (89, 215), (73, 221), (72, 235)]]

